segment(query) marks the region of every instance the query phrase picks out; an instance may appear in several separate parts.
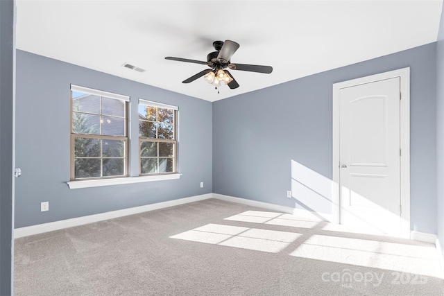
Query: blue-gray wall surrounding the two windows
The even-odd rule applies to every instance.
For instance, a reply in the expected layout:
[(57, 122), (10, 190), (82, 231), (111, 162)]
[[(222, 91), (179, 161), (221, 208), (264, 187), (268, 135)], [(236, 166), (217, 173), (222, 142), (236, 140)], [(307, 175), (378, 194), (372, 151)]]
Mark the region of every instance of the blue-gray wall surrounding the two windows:
[[(149, 82), (149, 81), (147, 81)], [(177, 105), (179, 180), (69, 189), (70, 84), (130, 96), (130, 155), (138, 155), (138, 98)], [(212, 103), (17, 51), (15, 227), (212, 192)], [(3, 142), (3, 141), (2, 141)], [(130, 175), (138, 173), (130, 158)], [(200, 188), (203, 181), (205, 187)], [(40, 202), (49, 211), (40, 212)]]

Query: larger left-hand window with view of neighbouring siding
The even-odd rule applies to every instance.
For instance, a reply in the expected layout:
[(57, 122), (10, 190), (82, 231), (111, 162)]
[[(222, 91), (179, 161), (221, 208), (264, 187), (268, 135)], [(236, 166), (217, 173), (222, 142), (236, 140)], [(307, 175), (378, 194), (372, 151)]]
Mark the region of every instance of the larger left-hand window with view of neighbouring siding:
[(71, 180), (128, 175), (128, 101), (71, 85)]

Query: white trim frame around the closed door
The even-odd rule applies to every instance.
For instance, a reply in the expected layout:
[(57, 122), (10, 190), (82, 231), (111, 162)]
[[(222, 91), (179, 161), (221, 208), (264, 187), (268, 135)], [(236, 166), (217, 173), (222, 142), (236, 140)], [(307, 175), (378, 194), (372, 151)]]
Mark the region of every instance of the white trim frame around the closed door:
[(410, 238), (410, 67), (384, 73), (347, 80), (333, 84), (333, 222), (341, 222), (341, 195), (339, 168), (339, 91), (365, 83), (400, 78), (400, 194), (401, 194), (401, 229), (400, 236)]

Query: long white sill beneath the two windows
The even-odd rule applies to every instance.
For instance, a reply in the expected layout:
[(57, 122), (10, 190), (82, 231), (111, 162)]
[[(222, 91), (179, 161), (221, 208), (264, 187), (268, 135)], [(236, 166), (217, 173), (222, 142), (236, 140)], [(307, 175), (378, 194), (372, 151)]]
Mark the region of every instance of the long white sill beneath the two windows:
[(99, 187), (119, 184), (132, 184), (141, 182), (153, 182), (163, 180), (176, 180), (179, 179), (182, 174), (167, 174), (167, 175), (153, 175), (153, 176), (139, 176), (139, 177), (120, 177), (111, 179), (100, 180), (80, 180), (67, 182), (69, 189)]

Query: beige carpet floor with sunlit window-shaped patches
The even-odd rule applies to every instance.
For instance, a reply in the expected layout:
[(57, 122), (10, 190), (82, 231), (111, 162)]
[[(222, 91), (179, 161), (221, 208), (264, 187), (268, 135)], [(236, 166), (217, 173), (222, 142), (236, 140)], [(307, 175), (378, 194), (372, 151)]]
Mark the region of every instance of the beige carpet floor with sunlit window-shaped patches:
[(433, 245), (204, 200), (15, 240), (15, 295), (444, 295)]

